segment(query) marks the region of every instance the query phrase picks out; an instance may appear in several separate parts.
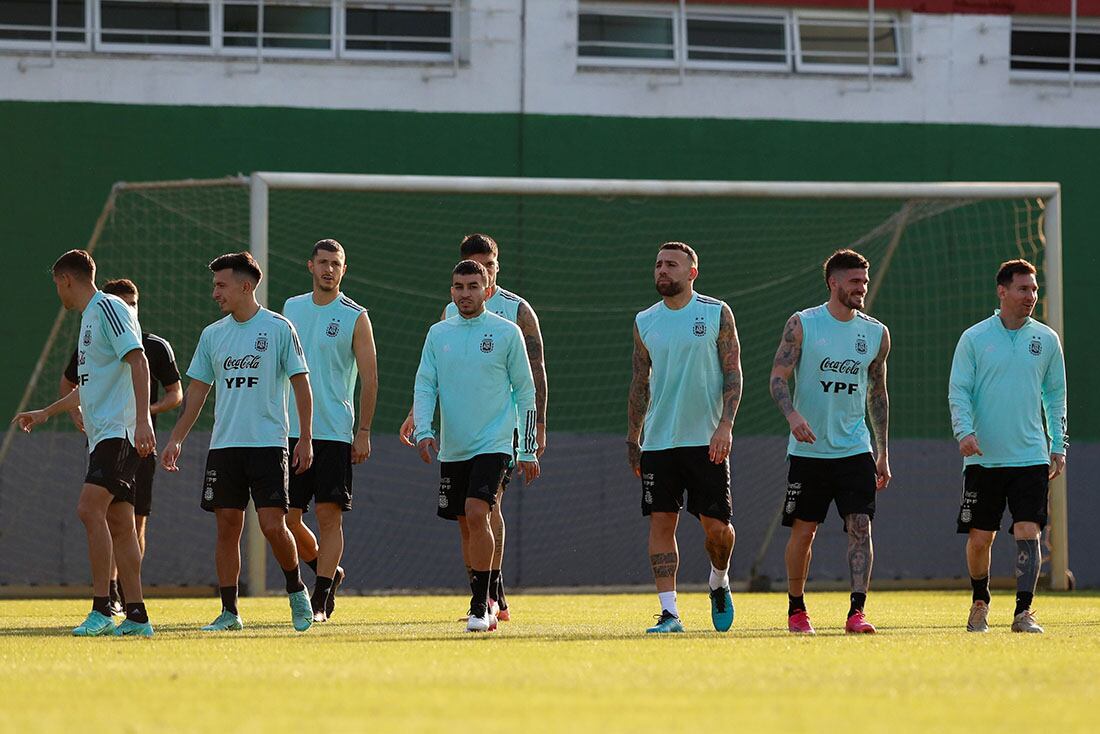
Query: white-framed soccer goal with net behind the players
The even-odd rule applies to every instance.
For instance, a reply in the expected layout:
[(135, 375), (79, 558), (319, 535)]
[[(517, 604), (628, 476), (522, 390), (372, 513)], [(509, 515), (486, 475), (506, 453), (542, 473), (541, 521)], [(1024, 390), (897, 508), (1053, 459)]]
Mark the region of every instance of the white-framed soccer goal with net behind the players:
[[(265, 273), (257, 297), (278, 309), (284, 298), (308, 289), (305, 262), (315, 241), (332, 237), (344, 244), (344, 291), (371, 309), (378, 343), (375, 450), (355, 474), (356, 507), (365, 508), (345, 518), (345, 558), (369, 569), (356, 581), (366, 589), (461, 585), (461, 569), (438, 562), (453, 556), (455, 539), (450, 527), (431, 522), (433, 468), (410, 460), (394, 434), (408, 410), (424, 332), (448, 297), (447, 273), (462, 235), (485, 231), (497, 239), (501, 283), (531, 303), (546, 340), (551, 431), (546, 473), (534, 491), (506, 497), (505, 570), (513, 585), (528, 587), (651, 582), (645, 554), (635, 552), (637, 487), (625, 470), (622, 435), (630, 324), (657, 298), (652, 254), (667, 240), (696, 248), (698, 289), (730, 304), (741, 337), (745, 394), (733, 457), (738, 534), (733, 576), (747, 583), (750, 566), (762, 577), (782, 573), (781, 549), (772, 538), (785, 479), (787, 426), (768, 396), (767, 374), (785, 319), (825, 298), (821, 262), (836, 248), (855, 248), (871, 260), (868, 310), (893, 335), (895, 479), (876, 517), (883, 538), (877, 572), (901, 581), (950, 579), (965, 573), (954, 526), (943, 527), (944, 508), (949, 519), (960, 483), (946, 399), (952, 351), (961, 331), (996, 306), (992, 274), (997, 263), (1012, 258), (1040, 267), (1037, 316), (1064, 338), (1059, 190), (1055, 183), (258, 172), (118, 184), (87, 247), (100, 277), (139, 284), (143, 325), (172, 342), (185, 370), (201, 329), (220, 317), (210, 299), (210, 260), (251, 250)], [(55, 377), (75, 340), (74, 315), (58, 311), (21, 409), (56, 396)], [(157, 475), (155, 543), (145, 565), (152, 583), (200, 585), (211, 579), (213, 524), (195, 504), (212, 413), (208, 405), (196, 425), (182, 471)], [(174, 417), (158, 424), (162, 435)], [(73, 549), (82, 534), (66, 523), (72, 507), (62, 503), (59, 489), (78, 486), (82, 475), (73, 458), (80, 453), (80, 436), (59, 418), (44, 428), (30, 437), (9, 429), (0, 445), (0, 583), (76, 584), (87, 578), (82, 552)], [(1065, 589), (1063, 478), (1052, 483), (1050, 494), (1050, 583)], [(887, 502), (924, 513), (922, 519), (939, 528), (932, 541), (935, 558), (924, 557), (928, 530), (899, 519), (904, 512), (888, 511)], [(568, 507), (580, 512), (570, 514)], [(698, 533), (691, 523), (681, 526), (685, 534)], [(847, 574), (843, 551), (829, 546), (839, 535), (835, 528), (821, 534), (815, 580)], [(408, 552), (394, 550), (405, 544), (411, 544)], [(35, 545), (47, 551), (29, 554)], [(902, 557), (891, 558), (902, 546)], [(263, 593), (278, 574), (265, 562), (266, 541), (251, 516), (245, 547), (248, 591)], [(578, 562), (586, 555), (600, 562)], [(705, 574), (692, 577), (696, 571), (684, 563), (681, 581), (705, 582)]]

